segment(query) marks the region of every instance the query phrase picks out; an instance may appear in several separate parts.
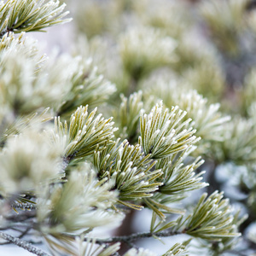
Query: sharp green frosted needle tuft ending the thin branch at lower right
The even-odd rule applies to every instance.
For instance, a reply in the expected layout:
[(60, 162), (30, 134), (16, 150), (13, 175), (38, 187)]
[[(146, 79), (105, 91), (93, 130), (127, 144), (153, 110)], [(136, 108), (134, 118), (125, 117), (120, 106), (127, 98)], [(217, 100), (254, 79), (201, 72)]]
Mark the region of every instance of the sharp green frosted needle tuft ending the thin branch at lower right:
[(234, 214), (230, 201), (223, 197), (223, 192), (215, 191), (208, 198), (207, 193), (204, 193), (189, 215), (182, 215), (169, 223), (164, 223), (161, 219), (158, 222), (154, 213), (150, 230), (155, 236), (182, 232), (201, 238), (202, 242), (208, 241), (212, 243), (212, 247), (213, 243), (217, 242), (215, 246), (219, 246), (219, 252), (221, 247), (223, 251), (227, 250), (233, 247), (236, 238), (241, 236), (238, 227), (247, 217), (242, 219), (238, 217), (239, 212)]

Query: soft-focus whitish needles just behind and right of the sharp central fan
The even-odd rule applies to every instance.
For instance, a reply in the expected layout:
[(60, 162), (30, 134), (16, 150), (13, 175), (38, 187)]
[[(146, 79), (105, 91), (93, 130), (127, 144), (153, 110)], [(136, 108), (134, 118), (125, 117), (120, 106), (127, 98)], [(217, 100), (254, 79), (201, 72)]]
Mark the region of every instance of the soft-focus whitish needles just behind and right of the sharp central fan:
[(157, 86), (153, 83), (148, 96), (162, 99), (168, 108), (177, 105), (185, 110), (187, 112), (185, 118), (192, 119), (185, 127), (195, 128), (196, 136), (202, 139), (198, 151), (207, 154), (210, 143), (224, 141), (224, 124), (230, 120), (230, 116), (224, 116), (219, 111), (219, 103), (209, 104), (207, 98), (198, 94), (196, 90), (179, 89), (177, 86), (174, 81), (169, 83), (162, 81)]

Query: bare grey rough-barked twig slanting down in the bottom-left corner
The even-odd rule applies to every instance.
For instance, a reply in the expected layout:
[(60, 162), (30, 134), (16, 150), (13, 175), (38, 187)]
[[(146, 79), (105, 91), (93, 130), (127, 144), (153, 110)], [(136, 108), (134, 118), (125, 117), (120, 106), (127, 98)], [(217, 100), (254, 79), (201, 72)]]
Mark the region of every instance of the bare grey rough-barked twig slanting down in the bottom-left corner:
[(34, 253), (38, 256), (49, 256), (48, 253), (44, 253), (44, 251), (38, 249), (37, 247), (33, 247), (29, 242), (27, 241), (22, 241), (19, 238), (16, 238), (14, 236), (10, 236), (8, 234), (5, 234), (3, 232), (0, 232), (0, 237), (3, 238), (6, 241), (9, 241), (13, 244), (15, 244), (18, 247), (22, 247), (26, 251), (30, 253)]

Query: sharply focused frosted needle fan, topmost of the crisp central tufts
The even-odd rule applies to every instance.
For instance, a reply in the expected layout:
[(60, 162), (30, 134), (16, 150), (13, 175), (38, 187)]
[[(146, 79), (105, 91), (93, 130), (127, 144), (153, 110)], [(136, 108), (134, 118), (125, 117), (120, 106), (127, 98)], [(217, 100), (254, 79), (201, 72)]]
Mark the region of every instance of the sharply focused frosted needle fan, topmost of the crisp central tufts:
[(193, 145), (200, 140), (193, 128), (184, 129), (191, 119), (182, 121), (187, 113), (172, 107), (171, 111), (160, 102), (149, 114), (141, 113), (139, 143), (151, 158), (165, 158)]

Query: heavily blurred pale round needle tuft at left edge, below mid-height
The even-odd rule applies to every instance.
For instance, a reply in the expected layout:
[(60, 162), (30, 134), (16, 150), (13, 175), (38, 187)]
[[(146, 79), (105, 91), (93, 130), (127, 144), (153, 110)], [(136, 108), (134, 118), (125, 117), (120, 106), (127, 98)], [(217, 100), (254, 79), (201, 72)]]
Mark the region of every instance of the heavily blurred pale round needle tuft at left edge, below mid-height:
[(9, 137), (0, 155), (1, 194), (37, 190), (41, 183), (60, 179), (63, 176), (60, 149), (44, 133), (31, 129)]

